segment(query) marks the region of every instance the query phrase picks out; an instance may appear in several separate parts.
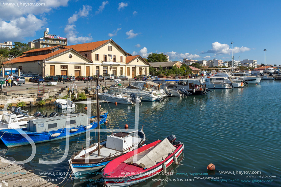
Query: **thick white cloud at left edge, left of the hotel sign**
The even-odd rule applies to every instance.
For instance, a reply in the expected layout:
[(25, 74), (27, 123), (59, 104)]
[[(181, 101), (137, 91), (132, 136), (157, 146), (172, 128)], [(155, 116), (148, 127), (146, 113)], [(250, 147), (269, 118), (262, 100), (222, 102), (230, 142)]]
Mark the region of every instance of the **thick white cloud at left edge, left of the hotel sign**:
[(46, 24), (45, 20), (40, 20), (32, 14), (25, 17), (12, 19), (9, 22), (0, 20), (0, 36), (5, 40), (20, 40), (24, 37), (34, 36)]

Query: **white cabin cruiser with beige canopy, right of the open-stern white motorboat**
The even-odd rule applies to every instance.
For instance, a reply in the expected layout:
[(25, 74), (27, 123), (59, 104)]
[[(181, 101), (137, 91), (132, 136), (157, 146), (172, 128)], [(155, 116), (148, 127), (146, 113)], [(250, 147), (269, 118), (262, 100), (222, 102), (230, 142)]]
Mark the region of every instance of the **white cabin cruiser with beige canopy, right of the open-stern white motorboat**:
[(135, 94), (141, 101), (161, 101), (160, 85), (151, 81), (136, 81), (122, 89), (123, 94)]

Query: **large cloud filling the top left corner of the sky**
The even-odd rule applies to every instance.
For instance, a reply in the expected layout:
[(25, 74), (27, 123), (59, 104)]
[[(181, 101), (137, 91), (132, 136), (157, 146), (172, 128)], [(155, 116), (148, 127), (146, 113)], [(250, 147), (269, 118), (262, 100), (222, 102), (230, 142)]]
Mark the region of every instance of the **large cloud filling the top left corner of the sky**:
[[(3, 1), (1, 1), (0, 5), (0, 17), (4, 21), (13, 20), (19, 17), (23, 17), (25, 15), (33, 14), (43, 14), (48, 13), (54, 8), (58, 8), (60, 6), (67, 6), (69, 0), (28, 0), (28, 1), (18, 1), (18, 0), (9, 0), (6, 1), (8, 3), (22, 3), (18, 4), (19, 6), (4, 6)], [(23, 3), (41, 3), (42, 6), (25, 6)], [(43, 6), (43, 3), (44, 6)]]

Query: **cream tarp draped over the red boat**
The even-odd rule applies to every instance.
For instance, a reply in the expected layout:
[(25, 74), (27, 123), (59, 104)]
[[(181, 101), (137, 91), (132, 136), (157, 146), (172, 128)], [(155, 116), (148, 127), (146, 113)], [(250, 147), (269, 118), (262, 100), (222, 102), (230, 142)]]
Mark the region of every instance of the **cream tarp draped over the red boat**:
[[(124, 163), (134, 161), (134, 157), (137, 157), (136, 164), (144, 164), (146, 168), (150, 168), (156, 165), (158, 162), (161, 162), (162, 157), (165, 159), (169, 154), (173, 153), (176, 148), (169, 142), (167, 138), (161, 141), (159, 144), (155, 145), (152, 148), (142, 151), (141, 153), (130, 157), (125, 160)], [(136, 159), (136, 158), (135, 158)]]

